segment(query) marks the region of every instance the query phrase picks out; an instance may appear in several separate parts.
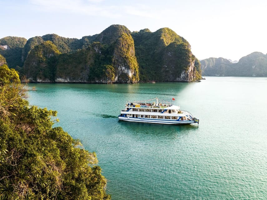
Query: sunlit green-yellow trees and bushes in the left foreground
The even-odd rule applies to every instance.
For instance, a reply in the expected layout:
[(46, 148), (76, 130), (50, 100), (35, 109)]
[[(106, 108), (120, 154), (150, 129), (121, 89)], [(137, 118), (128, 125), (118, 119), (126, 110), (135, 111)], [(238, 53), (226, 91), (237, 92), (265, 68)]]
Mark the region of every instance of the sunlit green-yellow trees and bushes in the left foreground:
[(25, 92), (19, 83), (0, 87), (0, 199), (110, 199), (96, 154), (53, 128), (57, 112), (30, 107)]

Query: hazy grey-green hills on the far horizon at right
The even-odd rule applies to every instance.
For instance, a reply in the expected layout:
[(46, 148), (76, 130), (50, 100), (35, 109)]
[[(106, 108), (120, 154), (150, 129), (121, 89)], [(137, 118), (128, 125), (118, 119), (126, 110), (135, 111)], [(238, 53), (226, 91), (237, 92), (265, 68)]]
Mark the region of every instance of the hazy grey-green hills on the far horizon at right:
[(267, 77), (267, 54), (254, 52), (231, 62), (225, 58), (200, 61), (202, 76)]

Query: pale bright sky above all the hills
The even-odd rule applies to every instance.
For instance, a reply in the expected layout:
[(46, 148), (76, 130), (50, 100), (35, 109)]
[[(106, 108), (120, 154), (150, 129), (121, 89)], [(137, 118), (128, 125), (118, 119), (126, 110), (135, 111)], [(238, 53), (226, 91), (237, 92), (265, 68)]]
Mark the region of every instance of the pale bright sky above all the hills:
[(267, 53), (266, 0), (0, 0), (0, 38), (55, 33), (82, 38), (112, 24), (130, 31), (168, 27), (196, 58)]

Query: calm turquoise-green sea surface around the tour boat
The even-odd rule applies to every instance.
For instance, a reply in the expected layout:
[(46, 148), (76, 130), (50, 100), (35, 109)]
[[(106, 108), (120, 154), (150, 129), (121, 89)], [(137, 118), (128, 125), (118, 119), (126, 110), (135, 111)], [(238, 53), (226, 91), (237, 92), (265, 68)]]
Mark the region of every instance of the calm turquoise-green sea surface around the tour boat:
[[(29, 84), (31, 105), (96, 152), (113, 200), (267, 199), (267, 78), (200, 83)], [(199, 125), (119, 121), (127, 100), (160, 98)]]

